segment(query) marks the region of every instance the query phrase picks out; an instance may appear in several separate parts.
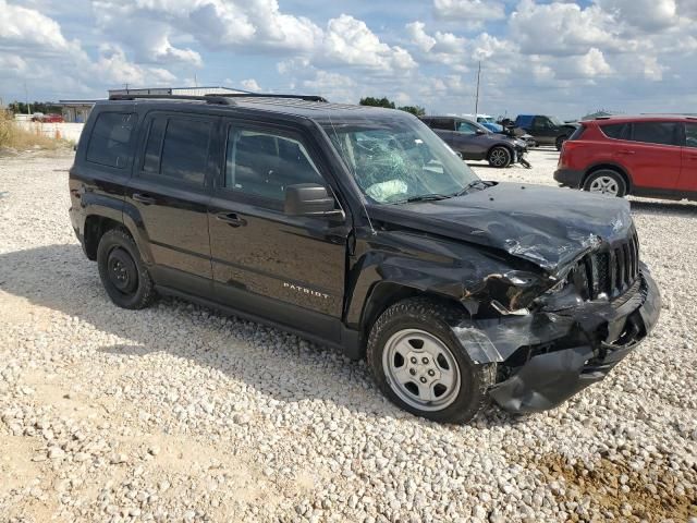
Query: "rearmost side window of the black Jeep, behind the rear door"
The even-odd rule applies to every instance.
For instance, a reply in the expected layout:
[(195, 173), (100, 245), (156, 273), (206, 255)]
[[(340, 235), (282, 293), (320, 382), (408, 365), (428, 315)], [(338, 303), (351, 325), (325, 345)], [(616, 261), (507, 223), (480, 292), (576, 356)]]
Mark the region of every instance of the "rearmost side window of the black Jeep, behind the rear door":
[(129, 167), (136, 122), (137, 115), (133, 112), (99, 113), (87, 145), (87, 161), (117, 169)]

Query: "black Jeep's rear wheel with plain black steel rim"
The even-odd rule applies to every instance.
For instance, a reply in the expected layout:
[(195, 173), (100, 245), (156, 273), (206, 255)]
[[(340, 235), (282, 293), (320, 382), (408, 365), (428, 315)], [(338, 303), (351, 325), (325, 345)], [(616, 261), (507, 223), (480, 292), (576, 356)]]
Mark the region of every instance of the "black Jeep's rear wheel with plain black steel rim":
[(145, 308), (156, 297), (138, 247), (122, 229), (107, 231), (97, 247), (97, 266), (105, 290), (113, 303), (122, 308)]

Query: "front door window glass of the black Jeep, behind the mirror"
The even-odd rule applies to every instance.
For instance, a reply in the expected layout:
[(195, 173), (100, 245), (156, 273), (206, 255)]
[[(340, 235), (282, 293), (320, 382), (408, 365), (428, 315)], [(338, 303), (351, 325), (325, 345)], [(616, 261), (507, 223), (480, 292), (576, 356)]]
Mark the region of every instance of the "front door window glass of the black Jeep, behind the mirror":
[(225, 188), (282, 202), (285, 187), (298, 183), (323, 184), (301, 142), (274, 132), (230, 127)]

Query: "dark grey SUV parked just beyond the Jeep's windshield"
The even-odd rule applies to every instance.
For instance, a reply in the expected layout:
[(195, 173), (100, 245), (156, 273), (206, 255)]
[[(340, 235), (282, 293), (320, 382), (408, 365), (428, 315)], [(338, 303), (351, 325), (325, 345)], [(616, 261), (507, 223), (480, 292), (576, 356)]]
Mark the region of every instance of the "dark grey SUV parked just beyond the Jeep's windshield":
[(421, 117), (421, 121), (465, 160), (487, 160), (491, 167), (505, 168), (527, 153), (523, 142), (491, 133), (464, 118)]

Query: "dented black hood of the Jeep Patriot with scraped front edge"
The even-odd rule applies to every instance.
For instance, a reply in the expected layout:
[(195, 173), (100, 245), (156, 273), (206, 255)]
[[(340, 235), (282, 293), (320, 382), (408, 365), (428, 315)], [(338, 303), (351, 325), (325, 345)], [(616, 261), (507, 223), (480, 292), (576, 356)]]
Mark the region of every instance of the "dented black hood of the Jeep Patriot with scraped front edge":
[(498, 183), (435, 202), (369, 207), (370, 217), (505, 251), (553, 273), (599, 241), (628, 235), (629, 204), (579, 191)]

